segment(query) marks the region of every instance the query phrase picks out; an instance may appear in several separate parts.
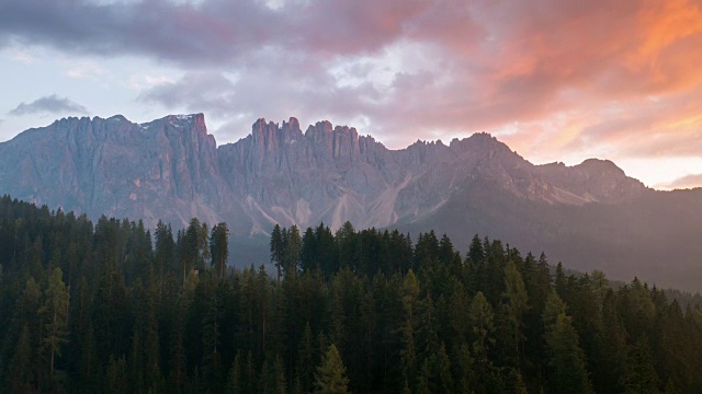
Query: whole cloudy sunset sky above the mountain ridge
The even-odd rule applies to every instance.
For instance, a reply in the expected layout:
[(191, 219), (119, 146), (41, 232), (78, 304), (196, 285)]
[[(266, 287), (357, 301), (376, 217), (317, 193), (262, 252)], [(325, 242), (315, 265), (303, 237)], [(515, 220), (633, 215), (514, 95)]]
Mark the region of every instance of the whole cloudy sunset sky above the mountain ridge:
[(535, 164), (702, 186), (702, 0), (2, 0), (0, 141), (66, 116), (487, 131)]

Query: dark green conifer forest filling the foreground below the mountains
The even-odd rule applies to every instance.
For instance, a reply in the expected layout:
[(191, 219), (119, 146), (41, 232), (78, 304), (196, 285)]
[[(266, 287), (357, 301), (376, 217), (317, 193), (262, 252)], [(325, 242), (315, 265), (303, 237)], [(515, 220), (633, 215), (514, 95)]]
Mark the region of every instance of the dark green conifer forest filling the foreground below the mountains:
[(702, 392), (699, 296), (473, 234), (276, 225), (229, 265), (228, 236), (2, 197), (0, 391)]

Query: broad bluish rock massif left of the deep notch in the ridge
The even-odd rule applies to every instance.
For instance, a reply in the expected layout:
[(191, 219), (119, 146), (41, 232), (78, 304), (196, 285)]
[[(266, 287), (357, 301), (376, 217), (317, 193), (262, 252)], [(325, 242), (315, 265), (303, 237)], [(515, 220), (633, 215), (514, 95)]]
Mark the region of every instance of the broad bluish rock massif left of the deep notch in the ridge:
[(217, 151), (204, 116), (168, 116), (137, 125), (123, 116), (65, 118), (0, 144), (0, 185), (14, 197), (65, 210), (214, 221)]

